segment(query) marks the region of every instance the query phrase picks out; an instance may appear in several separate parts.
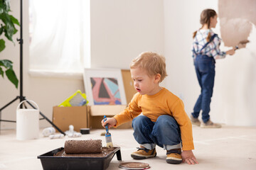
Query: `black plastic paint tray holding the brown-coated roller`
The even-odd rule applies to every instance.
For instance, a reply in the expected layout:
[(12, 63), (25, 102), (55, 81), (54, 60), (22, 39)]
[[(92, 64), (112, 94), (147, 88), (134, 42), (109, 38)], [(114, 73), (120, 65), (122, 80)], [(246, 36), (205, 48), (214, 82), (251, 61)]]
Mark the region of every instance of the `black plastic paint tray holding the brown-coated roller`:
[[(104, 147), (102, 147), (103, 149)], [(41, 154), (38, 159), (41, 159), (41, 164), (44, 170), (50, 169), (93, 169), (93, 170), (105, 170), (110, 165), (110, 161), (117, 154), (117, 160), (121, 161), (120, 147), (114, 147), (114, 150), (108, 152), (102, 157), (85, 157), (85, 154), (75, 154), (74, 156), (62, 157), (56, 156), (58, 153), (63, 152), (64, 148), (60, 147), (54, 149), (46, 154)]]

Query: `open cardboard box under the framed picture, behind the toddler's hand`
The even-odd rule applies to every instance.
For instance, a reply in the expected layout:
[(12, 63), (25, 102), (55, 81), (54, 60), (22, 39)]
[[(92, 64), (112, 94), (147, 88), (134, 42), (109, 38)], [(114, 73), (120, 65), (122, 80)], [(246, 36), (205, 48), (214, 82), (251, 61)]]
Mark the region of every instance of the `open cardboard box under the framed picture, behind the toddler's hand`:
[[(90, 128), (91, 129), (104, 129), (102, 127), (101, 121), (103, 116), (106, 115), (107, 118), (111, 118), (117, 115), (121, 111), (124, 111), (126, 105), (93, 105), (90, 106)], [(132, 121), (119, 125), (117, 129), (129, 129), (132, 128)]]

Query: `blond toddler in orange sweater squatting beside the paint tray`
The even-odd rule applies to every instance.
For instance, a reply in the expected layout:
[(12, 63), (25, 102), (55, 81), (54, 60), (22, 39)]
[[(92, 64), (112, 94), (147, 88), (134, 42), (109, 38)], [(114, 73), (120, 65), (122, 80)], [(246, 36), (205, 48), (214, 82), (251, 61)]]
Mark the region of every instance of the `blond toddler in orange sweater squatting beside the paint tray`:
[[(140, 147), (131, 154), (134, 159), (156, 157), (156, 145), (166, 149), (166, 162), (198, 164), (192, 149), (191, 120), (180, 98), (159, 86), (166, 74), (165, 58), (154, 52), (142, 52), (130, 65), (134, 95), (121, 113), (107, 118), (102, 125), (117, 127), (132, 120), (134, 138)], [(142, 113), (142, 114), (141, 114)], [(182, 148), (182, 152), (181, 152)]]

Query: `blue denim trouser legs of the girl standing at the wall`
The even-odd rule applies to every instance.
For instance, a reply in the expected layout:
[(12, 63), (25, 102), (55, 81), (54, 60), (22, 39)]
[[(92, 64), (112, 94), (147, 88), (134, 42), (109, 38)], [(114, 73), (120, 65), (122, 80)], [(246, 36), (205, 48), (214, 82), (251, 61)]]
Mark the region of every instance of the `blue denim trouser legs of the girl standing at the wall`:
[(201, 94), (196, 101), (192, 115), (194, 118), (198, 118), (202, 110), (202, 120), (206, 123), (210, 118), (210, 98), (213, 96), (215, 60), (207, 55), (197, 55), (194, 65), (201, 86)]

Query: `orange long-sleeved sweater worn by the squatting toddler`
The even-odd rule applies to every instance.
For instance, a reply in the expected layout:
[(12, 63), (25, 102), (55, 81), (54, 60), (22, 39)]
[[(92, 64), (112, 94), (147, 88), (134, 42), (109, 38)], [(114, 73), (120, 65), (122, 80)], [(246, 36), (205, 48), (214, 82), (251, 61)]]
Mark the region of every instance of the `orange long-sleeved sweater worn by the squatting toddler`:
[(169, 90), (162, 88), (157, 94), (151, 96), (135, 94), (129, 106), (121, 113), (114, 115), (117, 120), (115, 127), (129, 122), (140, 113), (146, 115), (152, 122), (156, 122), (160, 115), (174, 117), (181, 130), (182, 149), (194, 149), (191, 120), (184, 110), (183, 101)]

